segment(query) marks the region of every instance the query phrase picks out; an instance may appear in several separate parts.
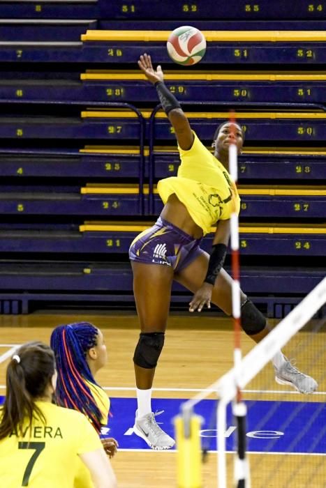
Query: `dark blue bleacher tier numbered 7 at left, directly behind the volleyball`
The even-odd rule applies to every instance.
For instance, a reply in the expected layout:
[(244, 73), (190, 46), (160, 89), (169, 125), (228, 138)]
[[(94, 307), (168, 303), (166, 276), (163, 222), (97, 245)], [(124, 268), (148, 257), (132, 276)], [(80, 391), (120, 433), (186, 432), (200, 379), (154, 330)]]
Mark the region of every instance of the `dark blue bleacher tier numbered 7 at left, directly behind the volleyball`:
[[(148, 45), (138, 42), (137, 45), (126, 45), (122, 42), (82, 43), (78, 41), (57, 41), (49, 45), (35, 42), (19, 42), (17, 45), (0, 43), (0, 61), (11, 63), (128, 63), (135, 66), (135, 59), (150, 50), (153, 59), (165, 65), (172, 65), (164, 43)], [(130, 44), (130, 43), (129, 43)], [(266, 66), (310, 65), (324, 66), (326, 62), (325, 43), (212, 43), (202, 59), (202, 66), (254, 66), (259, 63)]]

